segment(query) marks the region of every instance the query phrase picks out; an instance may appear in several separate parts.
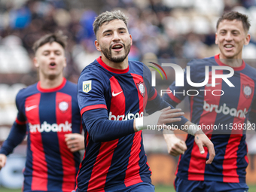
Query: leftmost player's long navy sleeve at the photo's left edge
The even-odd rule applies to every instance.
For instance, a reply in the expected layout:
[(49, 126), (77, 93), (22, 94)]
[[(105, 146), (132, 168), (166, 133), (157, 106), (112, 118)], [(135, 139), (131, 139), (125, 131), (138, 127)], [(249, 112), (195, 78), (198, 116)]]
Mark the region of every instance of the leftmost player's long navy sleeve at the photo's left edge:
[(20, 94), (18, 93), (16, 97), (16, 106), (18, 109), (17, 119), (11, 127), (11, 132), (9, 133), (8, 138), (2, 145), (0, 154), (11, 154), (12, 151), (14, 151), (14, 148), (23, 142), (23, 139), (26, 136), (26, 117), (21, 110), (21, 105), (22, 101), (20, 99)]

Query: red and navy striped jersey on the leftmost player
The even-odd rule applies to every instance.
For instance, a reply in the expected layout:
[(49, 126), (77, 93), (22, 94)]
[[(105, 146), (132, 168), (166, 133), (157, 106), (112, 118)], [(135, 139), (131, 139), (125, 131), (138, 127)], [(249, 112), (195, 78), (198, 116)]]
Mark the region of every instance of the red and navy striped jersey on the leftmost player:
[(39, 81), (20, 90), (16, 105), (17, 120), (0, 153), (10, 154), (28, 134), (23, 191), (75, 189), (80, 154), (69, 151), (65, 135), (82, 129), (76, 84), (63, 78), (59, 87), (43, 89)]

